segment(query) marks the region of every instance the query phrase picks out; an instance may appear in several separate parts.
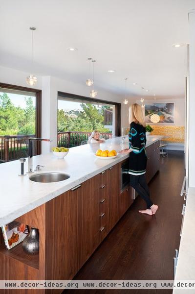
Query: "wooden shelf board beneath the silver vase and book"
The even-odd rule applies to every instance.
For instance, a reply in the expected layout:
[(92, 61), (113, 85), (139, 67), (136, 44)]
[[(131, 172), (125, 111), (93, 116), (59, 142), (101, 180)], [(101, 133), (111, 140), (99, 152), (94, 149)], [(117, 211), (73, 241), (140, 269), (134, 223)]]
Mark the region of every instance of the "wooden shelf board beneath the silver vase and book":
[(11, 249), (7, 249), (5, 245), (0, 244), (0, 254), (9, 256), (10, 258), (16, 259), (27, 266), (39, 270), (39, 254), (30, 255), (23, 251), (22, 242)]

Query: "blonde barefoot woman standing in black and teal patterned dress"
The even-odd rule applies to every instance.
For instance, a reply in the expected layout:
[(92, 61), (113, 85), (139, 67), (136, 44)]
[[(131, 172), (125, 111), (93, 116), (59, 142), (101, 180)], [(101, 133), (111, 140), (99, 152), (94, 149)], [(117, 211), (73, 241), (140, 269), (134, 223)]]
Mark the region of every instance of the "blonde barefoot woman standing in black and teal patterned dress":
[(150, 191), (146, 182), (146, 124), (142, 108), (134, 103), (129, 108), (129, 149), (121, 150), (121, 153), (130, 153), (129, 174), (130, 185), (146, 202), (147, 208), (139, 210), (140, 213), (153, 215), (158, 209), (158, 205), (152, 203)]

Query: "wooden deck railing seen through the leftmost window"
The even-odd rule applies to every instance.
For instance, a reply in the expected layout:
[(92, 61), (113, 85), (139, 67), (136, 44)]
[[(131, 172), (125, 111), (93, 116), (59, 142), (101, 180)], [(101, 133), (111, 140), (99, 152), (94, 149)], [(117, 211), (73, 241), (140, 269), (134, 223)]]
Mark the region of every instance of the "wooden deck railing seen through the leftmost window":
[(35, 135), (0, 136), (0, 163), (27, 157), (29, 137)]

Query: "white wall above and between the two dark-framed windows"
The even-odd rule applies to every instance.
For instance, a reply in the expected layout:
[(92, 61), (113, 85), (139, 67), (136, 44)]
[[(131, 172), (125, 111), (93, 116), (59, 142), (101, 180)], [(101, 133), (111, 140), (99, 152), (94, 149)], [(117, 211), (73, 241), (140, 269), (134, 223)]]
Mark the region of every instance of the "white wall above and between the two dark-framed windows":
[[(30, 86), (26, 84), (26, 76), (28, 74), (29, 73), (0, 67), (0, 82), (30, 88)], [(89, 97), (90, 89), (85, 85), (85, 81), (82, 84), (76, 84), (52, 76), (38, 76), (37, 84), (35, 87), (31, 88), (42, 90), (42, 137), (52, 140), (50, 144), (42, 142), (42, 153), (46, 153), (51, 150), (51, 147), (57, 145), (58, 91)], [(102, 89), (97, 89), (97, 91), (98, 99), (119, 103), (122, 102), (123, 97), (118, 94), (104, 91)], [(122, 118), (124, 117), (123, 105)], [(124, 123), (126, 122), (122, 119), (122, 126), (125, 126)]]

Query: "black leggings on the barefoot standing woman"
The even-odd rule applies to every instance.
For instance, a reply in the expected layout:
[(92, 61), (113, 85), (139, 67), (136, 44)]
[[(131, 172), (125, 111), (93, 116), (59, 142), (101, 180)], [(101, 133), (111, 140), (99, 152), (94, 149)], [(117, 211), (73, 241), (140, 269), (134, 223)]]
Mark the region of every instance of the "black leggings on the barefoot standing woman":
[(147, 209), (151, 209), (151, 206), (153, 205), (153, 203), (150, 199), (150, 191), (146, 182), (145, 174), (141, 174), (141, 175), (130, 174), (130, 185), (144, 199), (147, 205)]

